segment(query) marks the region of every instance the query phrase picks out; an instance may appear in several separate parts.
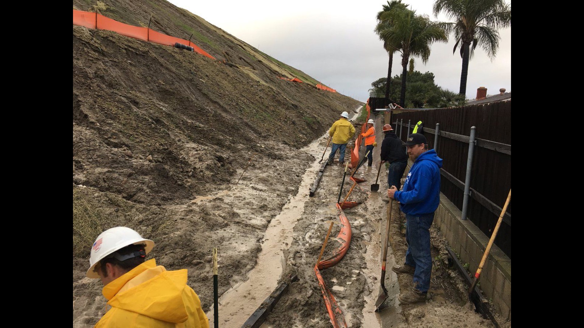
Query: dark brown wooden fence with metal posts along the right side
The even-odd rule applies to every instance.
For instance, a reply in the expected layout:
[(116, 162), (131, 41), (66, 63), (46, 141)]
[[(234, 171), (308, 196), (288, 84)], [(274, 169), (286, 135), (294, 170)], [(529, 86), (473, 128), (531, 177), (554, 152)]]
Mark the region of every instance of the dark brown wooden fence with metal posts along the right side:
[[(398, 129), (404, 129), (401, 134), (402, 141), (408, 137), (406, 134), (408, 120), (411, 120), (412, 127), (418, 121), (422, 121), (423, 126), (430, 130), (434, 130), (436, 123), (440, 123), (440, 137), (436, 152), (444, 160), (443, 169), (463, 183), (466, 179), (468, 136), (470, 136), (471, 127), (477, 127), (475, 138), (481, 140), (477, 140), (477, 146), (474, 148), (470, 182), (472, 190), (467, 217), (487, 237), (490, 237), (499, 217), (500, 208), (505, 204), (511, 188), (511, 101), (445, 109), (405, 110), (401, 113), (392, 113), (391, 119), (394, 122), (392, 124), (395, 124), (395, 121), (399, 123), (402, 118), (405, 126), (399, 127), (397, 124), (394, 127), (398, 136)], [(411, 131), (410, 129), (409, 133)], [(434, 133), (432, 131), (422, 133), (428, 141), (429, 148), (434, 148)], [(463, 135), (466, 138), (452, 134)], [(462, 210), (464, 189), (460, 189), (457, 183), (451, 182), (443, 175), (440, 191)], [(486, 206), (479, 203), (477, 195), (473, 198), (473, 191), (481, 194), (494, 205), (481, 197), (478, 198)], [(497, 208), (499, 212), (493, 213)], [(509, 258), (511, 258), (511, 208), (511, 203), (509, 203), (505, 221), (495, 239), (495, 244)]]

